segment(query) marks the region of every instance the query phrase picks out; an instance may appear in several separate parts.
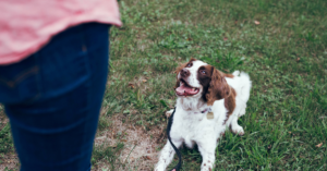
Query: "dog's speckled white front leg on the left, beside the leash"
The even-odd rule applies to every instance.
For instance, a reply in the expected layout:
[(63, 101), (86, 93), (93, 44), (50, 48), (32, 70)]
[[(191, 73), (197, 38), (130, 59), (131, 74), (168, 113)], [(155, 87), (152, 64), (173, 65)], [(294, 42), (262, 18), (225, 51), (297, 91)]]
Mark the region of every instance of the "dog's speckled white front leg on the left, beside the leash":
[[(173, 139), (171, 139), (171, 141), (177, 148), (179, 148), (182, 145), (182, 142), (180, 142), (180, 141), (173, 141)], [(166, 168), (171, 162), (174, 154), (175, 154), (175, 151), (173, 150), (169, 141), (167, 141), (167, 144), (165, 145), (165, 147), (162, 148), (162, 150), (160, 152), (160, 158), (156, 166), (155, 171), (165, 171)]]

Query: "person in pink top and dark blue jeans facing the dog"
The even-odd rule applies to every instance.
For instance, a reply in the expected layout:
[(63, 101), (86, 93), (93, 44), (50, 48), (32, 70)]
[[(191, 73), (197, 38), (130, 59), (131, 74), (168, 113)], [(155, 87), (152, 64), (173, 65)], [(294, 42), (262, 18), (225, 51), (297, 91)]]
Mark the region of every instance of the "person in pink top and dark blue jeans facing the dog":
[(1, 0), (0, 102), (22, 171), (90, 170), (116, 0)]

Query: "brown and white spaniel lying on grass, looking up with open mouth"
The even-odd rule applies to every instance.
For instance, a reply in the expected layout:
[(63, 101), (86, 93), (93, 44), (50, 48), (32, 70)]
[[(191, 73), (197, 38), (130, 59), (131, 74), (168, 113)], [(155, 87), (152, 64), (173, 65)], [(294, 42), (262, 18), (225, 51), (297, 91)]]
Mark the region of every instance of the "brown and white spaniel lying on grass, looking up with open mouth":
[[(183, 143), (193, 148), (196, 143), (203, 159), (201, 171), (211, 171), (215, 149), (226, 127), (235, 134), (244, 134), (238, 119), (245, 114), (252, 82), (244, 72), (226, 74), (193, 58), (181, 64), (175, 73), (178, 99), (172, 115), (171, 142), (177, 148)], [(174, 154), (167, 141), (155, 171), (166, 170)]]

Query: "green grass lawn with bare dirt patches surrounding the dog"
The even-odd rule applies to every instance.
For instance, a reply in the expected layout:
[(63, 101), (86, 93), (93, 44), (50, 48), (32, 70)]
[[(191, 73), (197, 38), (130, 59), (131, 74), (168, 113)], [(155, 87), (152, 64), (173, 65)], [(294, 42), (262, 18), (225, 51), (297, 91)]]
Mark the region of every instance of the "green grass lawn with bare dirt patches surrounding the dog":
[[(245, 135), (226, 133), (215, 170), (327, 170), (327, 1), (119, 4), (124, 25), (110, 30), (111, 69), (93, 170), (154, 169), (167, 139), (165, 111), (174, 106), (173, 72), (191, 58), (226, 73), (245, 71), (253, 84), (239, 120)], [(0, 164), (14, 159), (5, 124)], [(183, 148), (182, 156), (183, 170), (199, 170), (196, 148)]]

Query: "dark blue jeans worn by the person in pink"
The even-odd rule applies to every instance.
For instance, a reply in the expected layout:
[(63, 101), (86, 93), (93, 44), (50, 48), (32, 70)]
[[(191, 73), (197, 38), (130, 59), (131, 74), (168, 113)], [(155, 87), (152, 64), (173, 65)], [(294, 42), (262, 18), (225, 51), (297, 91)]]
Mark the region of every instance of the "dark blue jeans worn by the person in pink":
[(90, 170), (108, 75), (109, 27), (68, 28), (23, 61), (0, 65), (0, 102), (22, 171)]

